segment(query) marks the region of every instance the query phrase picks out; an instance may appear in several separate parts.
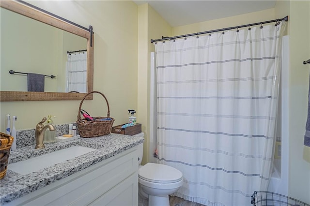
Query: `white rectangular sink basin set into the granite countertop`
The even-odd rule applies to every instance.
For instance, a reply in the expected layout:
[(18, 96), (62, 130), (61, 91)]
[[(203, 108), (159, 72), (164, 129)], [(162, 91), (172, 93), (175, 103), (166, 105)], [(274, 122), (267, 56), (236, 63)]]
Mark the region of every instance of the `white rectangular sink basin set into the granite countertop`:
[(52, 166), (54, 164), (76, 158), (80, 155), (92, 152), (94, 150), (95, 149), (93, 148), (82, 146), (68, 147), (21, 162), (8, 164), (8, 169), (21, 175), (27, 175), (29, 173), (36, 172), (40, 169)]

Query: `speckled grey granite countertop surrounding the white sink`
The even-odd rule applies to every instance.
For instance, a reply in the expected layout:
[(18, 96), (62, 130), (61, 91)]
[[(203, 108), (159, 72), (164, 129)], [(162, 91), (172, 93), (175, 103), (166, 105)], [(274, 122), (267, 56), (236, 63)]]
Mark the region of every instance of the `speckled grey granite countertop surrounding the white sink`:
[(0, 180), (0, 204), (9, 203), (32, 191), (135, 147), (143, 141), (143, 137), (111, 133), (100, 137), (79, 138), (63, 143), (46, 143), (44, 149), (34, 149), (34, 145), (18, 148), (16, 151), (11, 152), (9, 164), (72, 146), (91, 147), (96, 150), (27, 175), (7, 170), (6, 175)]

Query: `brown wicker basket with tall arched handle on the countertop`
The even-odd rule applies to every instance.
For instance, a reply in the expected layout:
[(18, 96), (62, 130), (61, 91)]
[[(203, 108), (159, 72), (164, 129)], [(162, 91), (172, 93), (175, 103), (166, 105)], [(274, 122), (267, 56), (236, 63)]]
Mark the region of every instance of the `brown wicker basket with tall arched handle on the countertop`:
[[(82, 104), (85, 100), (85, 98), (92, 93), (98, 93), (101, 94), (108, 105), (108, 114), (107, 117), (93, 117), (94, 120), (89, 121), (86, 120), (85, 118), (81, 118), (81, 107)], [(103, 118), (110, 118), (110, 120), (100, 120)], [(91, 91), (88, 92), (82, 99), (81, 103), (79, 104), (79, 108), (78, 108), (78, 121), (77, 121), (77, 125), (78, 125), (78, 132), (80, 134), (81, 137), (98, 137), (98, 136), (103, 136), (106, 134), (111, 133), (112, 130), (112, 126), (113, 126), (113, 122), (114, 122), (114, 118), (110, 117), (110, 107), (109, 107), (109, 102), (106, 98), (106, 96), (99, 92), (99, 91)]]

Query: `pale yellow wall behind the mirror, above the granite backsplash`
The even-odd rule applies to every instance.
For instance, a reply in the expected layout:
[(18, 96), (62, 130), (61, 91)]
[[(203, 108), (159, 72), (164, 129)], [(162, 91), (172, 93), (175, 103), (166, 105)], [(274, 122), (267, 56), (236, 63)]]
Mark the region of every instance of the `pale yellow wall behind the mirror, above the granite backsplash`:
[[(94, 86), (104, 93), (114, 125), (128, 121), (128, 109), (137, 109), (138, 6), (132, 1), (30, 1), (94, 31)], [(1, 30), (1, 34), (4, 32)], [(55, 124), (77, 120), (80, 101), (0, 102), (1, 132), (4, 117), (17, 116), (16, 130), (34, 128), (47, 115)], [(107, 106), (99, 94), (84, 101), (83, 109), (93, 116), (106, 116)]]

